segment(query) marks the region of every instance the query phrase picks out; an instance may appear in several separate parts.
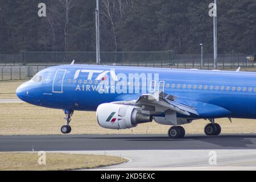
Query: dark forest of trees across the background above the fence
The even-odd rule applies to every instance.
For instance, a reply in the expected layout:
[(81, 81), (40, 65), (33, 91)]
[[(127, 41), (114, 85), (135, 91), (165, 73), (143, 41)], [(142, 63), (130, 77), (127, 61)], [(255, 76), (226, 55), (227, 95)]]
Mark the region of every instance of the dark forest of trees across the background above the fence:
[[(46, 17), (38, 4), (46, 4)], [(100, 0), (101, 51), (213, 52), (213, 0)], [(256, 52), (256, 1), (218, 0), (218, 52)], [(0, 0), (0, 53), (95, 51), (96, 0)]]

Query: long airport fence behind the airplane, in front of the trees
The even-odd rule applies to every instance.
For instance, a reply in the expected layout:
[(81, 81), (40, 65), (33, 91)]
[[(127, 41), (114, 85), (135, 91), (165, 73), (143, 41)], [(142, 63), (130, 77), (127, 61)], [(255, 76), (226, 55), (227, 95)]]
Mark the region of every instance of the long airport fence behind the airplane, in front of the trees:
[[(34, 76), (42, 69), (55, 65), (96, 64), (95, 52), (26, 52), (0, 55), (0, 81), (22, 80)], [(166, 52), (101, 52), (101, 64), (128, 67), (200, 69), (200, 54)], [(244, 54), (219, 54), (218, 69), (254, 67), (254, 61)], [(213, 55), (204, 55), (201, 69), (213, 69)]]

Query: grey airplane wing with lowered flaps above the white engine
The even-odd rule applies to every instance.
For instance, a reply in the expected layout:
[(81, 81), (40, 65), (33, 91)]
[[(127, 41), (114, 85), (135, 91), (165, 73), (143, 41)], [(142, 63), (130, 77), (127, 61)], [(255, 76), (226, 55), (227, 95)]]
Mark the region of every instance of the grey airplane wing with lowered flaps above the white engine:
[(134, 105), (141, 107), (146, 114), (160, 114), (176, 112), (186, 116), (191, 114), (199, 115), (194, 107), (175, 102), (175, 96), (164, 92), (155, 92), (153, 94), (142, 94), (137, 100), (118, 101), (114, 104)]

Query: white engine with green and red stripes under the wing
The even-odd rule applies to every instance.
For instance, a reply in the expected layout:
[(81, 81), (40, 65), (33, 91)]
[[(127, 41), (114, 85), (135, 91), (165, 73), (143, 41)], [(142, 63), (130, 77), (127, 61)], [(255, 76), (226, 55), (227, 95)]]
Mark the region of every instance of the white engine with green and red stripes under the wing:
[(106, 129), (130, 129), (141, 123), (152, 122), (152, 115), (143, 114), (139, 107), (101, 104), (97, 108), (97, 121)]

